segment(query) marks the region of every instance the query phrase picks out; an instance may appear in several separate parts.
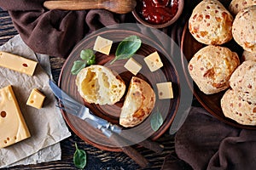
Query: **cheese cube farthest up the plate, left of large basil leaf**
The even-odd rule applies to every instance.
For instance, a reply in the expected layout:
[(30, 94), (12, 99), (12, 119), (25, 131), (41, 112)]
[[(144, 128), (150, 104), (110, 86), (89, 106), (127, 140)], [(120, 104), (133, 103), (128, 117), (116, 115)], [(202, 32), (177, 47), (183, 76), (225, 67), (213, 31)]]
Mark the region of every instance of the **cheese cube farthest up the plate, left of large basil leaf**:
[(108, 40), (103, 37), (96, 37), (96, 42), (94, 44), (93, 50), (101, 52), (102, 54), (109, 54), (113, 41)]

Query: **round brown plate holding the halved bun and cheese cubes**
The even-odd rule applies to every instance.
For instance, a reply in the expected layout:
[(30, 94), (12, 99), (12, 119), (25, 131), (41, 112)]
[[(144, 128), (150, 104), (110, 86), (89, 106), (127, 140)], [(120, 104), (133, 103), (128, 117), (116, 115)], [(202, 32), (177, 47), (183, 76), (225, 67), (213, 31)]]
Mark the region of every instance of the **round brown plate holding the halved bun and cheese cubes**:
[[(113, 40), (113, 46), (109, 55), (96, 53), (96, 64), (105, 65), (108, 68), (116, 71), (120, 77), (125, 81), (126, 88), (129, 86), (131, 77), (133, 76), (131, 72), (127, 71), (124, 67), (126, 59), (121, 59), (110, 65), (110, 61), (114, 58), (115, 49), (118, 46), (118, 43), (122, 41), (125, 37), (137, 35), (142, 39), (142, 46), (137, 51), (137, 54), (134, 56), (134, 59), (137, 60), (140, 64), (143, 65), (142, 70), (137, 74), (137, 77), (143, 78), (147, 81), (153, 88), (156, 94), (156, 103), (154, 105), (154, 113), (159, 110), (161, 115), (164, 118), (164, 123), (162, 126), (154, 132), (150, 126), (150, 118), (152, 114), (137, 127), (124, 128), (125, 130), (132, 130), (140, 135), (144, 135), (145, 138), (151, 138), (153, 140), (158, 139), (161, 134), (165, 133), (168, 127), (171, 126), (173, 118), (177, 112), (180, 90), (179, 90), (179, 80), (177, 77), (177, 71), (173, 65), (171, 57), (166, 53), (166, 51), (161, 48), (161, 46), (154, 42), (150, 37), (138, 32), (138, 31), (125, 31), (119, 29), (107, 29), (105, 31), (97, 31), (94, 34), (91, 34), (89, 37), (85, 37), (79, 44), (73, 48), (72, 53), (67, 58), (63, 68), (61, 70), (61, 75), (59, 79), (59, 86), (63, 91), (73, 97), (73, 99), (78, 100), (80, 103), (90, 108), (96, 116), (100, 116), (109, 122), (114, 124), (119, 124), (119, 114), (121, 106), (123, 105), (125, 97), (123, 97), (115, 105), (90, 105), (80, 97), (78, 89), (75, 85), (75, 76), (73, 76), (70, 71), (75, 60), (80, 59), (79, 54), (82, 49), (93, 48), (96, 37), (101, 36)], [(149, 45), (148, 45), (149, 44)], [(143, 58), (148, 54), (158, 51), (160, 58), (162, 59), (164, 66), (155, 72), (150, 72), (148, 66), (144, 64)], [(171, 81), (173, 84), (174, 99), (158, 99), (156, 83), (157, 82), (168, 82)], [(90, 127), (87, 122), (80, 120), (78, 117), (68, 114), (65, 111), (62, 111), (67, 124), (74, 133), (76, 133), (81, 139), (84, 139), (89, 144), (96, 146), (102, 150), (111, 150), (111, 151), (121, 151), (119, 148), (115, 147), (111, 141), (105, 137), (99, 130), (96, 130), (93, 127)]]

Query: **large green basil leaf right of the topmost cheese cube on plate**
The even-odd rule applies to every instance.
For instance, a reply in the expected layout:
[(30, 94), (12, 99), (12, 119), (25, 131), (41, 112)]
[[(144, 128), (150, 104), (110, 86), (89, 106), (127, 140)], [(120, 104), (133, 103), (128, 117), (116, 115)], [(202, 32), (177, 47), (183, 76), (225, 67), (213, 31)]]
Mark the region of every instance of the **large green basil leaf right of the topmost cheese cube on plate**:
[(142, 40), (137, 36), (125, 37), (115, 51), (115, 58), (111, 61), (111, 65), (118, 59), (129, 59), (141, 47)]

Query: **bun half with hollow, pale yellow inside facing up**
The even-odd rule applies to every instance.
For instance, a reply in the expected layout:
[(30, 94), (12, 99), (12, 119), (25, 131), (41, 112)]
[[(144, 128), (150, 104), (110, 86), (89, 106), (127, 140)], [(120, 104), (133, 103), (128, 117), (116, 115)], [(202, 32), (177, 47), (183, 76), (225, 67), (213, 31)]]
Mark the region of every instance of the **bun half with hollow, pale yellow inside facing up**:
[(125, 94), (125, 83), (102, 65), (90, 65), (79, 71), (76, 85), (88, 103), (113, 105)]

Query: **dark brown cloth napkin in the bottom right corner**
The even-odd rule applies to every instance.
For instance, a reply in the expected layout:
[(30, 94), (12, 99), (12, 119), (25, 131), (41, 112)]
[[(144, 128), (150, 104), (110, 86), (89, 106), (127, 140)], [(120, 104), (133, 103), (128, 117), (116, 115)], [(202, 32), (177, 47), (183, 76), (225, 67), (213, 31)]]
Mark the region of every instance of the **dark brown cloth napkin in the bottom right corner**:
[(256, 167), (256, 131), (230, 127), (199, 107), (191, 108), (177, 131), (175, 148), (195, 170)]

